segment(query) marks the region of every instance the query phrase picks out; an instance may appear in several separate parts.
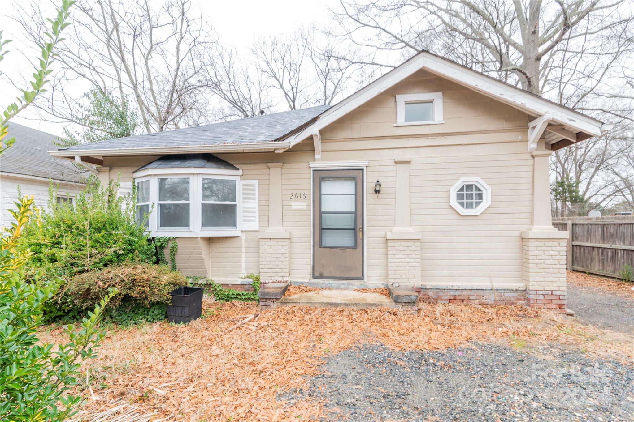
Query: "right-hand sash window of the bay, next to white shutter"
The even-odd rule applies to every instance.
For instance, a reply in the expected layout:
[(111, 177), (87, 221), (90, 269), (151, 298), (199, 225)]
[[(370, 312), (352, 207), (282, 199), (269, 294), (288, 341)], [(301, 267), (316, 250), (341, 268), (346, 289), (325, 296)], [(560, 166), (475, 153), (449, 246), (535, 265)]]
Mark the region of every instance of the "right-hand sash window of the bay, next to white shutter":
[(202, 177), (201, 226), (208, 228), (236, 228), (237, 181)]

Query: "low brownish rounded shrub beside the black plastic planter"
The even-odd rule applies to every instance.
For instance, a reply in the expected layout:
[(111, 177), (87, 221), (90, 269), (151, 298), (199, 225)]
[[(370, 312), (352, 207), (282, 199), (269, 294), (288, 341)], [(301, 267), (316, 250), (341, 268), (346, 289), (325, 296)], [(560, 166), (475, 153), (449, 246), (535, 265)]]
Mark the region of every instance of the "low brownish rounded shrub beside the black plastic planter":
[(168, 266), (124, 264), (74, 276), (63, 289), (63, 295), (79, 309), (87, 309), (115, 287), (119, 294), (110, 303), (113, 309), (126, 306), (167, 304), (169, 292), (187, 284), (183, 274)]

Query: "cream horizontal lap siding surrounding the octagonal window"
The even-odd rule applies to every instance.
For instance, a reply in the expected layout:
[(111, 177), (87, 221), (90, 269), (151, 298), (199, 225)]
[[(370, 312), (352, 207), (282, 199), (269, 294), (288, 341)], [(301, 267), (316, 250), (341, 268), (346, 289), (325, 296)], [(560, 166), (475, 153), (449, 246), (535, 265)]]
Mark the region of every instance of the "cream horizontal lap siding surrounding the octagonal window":
[[(411, 225), (422, 233), (424, 285), (524, 283), (519, 232), (531, 224), (532, 158), (483, 150), (411, 163)], [(479, 177), (491, 187), (491, 205), (479, 216), (461, 216), (450, 206), (450, 189), (462, 177)]]

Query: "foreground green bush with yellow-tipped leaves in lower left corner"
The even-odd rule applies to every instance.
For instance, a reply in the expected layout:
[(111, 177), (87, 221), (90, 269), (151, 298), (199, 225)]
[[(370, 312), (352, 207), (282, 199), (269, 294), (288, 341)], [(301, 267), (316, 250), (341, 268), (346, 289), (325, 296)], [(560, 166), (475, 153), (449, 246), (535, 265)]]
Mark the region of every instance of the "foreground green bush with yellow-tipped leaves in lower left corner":
[[(16, 202), (16, 223), (0, 236), (0, 420), (63, 421), (75, 412), (81, 397), (66, 394), (78, 385), (81, 362), (96, 356), (105, 333), (98, 330), (103, 308), (115, 289), (108, 290), (94, 312), (75, 331), (67, 326), (68, 343), (57, 350), (38, 344), (42, 305), (53, 297), (63, 280), (25, 282), (24, 266), (32, 254), (23, 249), (22, 229), (29, 220), (33, 199)], [(59, 406), (61, 404), (61, 406)]]

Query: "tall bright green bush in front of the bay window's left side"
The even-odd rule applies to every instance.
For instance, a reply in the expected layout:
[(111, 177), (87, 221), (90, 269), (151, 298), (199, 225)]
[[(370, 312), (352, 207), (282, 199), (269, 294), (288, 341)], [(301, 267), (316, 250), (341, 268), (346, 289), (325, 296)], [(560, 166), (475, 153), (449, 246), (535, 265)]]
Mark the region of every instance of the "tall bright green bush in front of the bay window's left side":
[(48, 210), (37, 210), (23, 244), (34, 252), (30, 266), (42, 277), (70, 278), (86, 271), (133, 262), (152, 262), (155, 248), (134, 220), (135, 192), (117, 197), (119, 183), (101, 187), (91, 176), (74, 204), (56, 204), (49, 187)]

